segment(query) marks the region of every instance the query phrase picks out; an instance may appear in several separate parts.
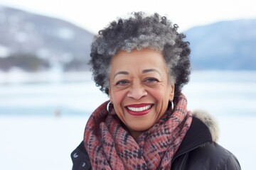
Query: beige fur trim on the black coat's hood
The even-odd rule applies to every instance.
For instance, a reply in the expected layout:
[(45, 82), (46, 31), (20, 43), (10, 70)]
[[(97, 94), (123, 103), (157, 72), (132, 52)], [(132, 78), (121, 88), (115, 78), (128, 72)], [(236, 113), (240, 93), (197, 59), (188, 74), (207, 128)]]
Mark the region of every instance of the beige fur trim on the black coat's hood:
[(213, 115), (210, 115), (208, 112), (201, 110), (193, 111), (192, 114), (194, 117), (200, 119), (203, 123), (205, 123), (208, 126), (210, 134), (212, 135), (213, 138), (213, 142), (217, 142), (220, 130), (218, 127), (218, 121), (213, 117)]

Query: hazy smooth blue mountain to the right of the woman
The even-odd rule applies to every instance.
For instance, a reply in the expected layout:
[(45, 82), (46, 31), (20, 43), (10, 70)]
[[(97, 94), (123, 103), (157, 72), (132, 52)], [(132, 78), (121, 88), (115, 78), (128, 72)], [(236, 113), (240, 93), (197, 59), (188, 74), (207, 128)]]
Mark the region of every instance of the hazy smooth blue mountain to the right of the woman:
[(256, 69), (256, 19), (198, 26), (185, 34), (193, 69)]

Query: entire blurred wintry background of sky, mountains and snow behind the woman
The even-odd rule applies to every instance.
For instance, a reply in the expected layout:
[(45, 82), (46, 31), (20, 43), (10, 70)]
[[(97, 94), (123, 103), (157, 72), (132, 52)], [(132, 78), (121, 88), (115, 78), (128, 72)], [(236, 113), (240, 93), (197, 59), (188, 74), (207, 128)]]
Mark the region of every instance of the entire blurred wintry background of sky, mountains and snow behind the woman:
[(220, 145), (256, 154), (255, 1), (0, 0), (0, 169), (71, 169), (90, 113), (107, 100), (87, 62), (93, 36), (132, 11), (158, 12), (191, 42), (188, 109), (217, 118)]

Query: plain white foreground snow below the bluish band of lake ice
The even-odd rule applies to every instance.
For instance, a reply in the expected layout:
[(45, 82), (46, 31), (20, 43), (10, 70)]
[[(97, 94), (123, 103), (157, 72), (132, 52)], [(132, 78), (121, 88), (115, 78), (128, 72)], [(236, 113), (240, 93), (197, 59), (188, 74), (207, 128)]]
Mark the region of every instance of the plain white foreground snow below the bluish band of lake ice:
[[(71, 169), (70, 153), (82, 141), (87, 116), (0, 117), (0, 169)], [(256, 117), (218, 117), (220, 145), (233, 152), (242, 169), (255, 162)]]

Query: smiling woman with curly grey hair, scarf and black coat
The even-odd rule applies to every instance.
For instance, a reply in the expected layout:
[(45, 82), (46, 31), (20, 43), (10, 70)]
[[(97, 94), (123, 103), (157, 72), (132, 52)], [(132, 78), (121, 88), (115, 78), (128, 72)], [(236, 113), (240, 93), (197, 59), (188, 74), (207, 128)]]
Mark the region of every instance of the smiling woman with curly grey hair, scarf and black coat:
[(110, 101), (90, 116), (73, 151), (73, 169), (240, 169), (216, 143), (206, 113), (192, 115), (181, 93), (189, 43), (166, 17), (132, 13), (100, 30), (91, 47), (93, 77)]

